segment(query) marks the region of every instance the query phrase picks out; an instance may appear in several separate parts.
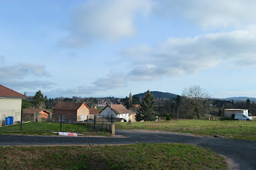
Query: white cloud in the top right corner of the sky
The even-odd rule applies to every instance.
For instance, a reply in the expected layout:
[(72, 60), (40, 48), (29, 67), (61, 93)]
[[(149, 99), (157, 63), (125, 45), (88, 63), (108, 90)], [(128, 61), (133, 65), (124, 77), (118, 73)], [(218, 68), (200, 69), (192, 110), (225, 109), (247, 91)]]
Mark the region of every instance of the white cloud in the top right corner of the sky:
[(180, 20), (186, 18), (204, 29), (255, 25), (254, 0), (162, 0), (154, 6), (154, 14)]

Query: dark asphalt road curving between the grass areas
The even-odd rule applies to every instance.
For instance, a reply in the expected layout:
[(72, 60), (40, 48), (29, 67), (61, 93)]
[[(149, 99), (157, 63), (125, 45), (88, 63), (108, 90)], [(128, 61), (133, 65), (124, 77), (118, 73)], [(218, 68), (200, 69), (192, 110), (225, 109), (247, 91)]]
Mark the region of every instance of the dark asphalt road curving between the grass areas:
[(256, 142), (163, 131), (116, 130), (117, 137), (0, 135), (0, 145), (133, 144), (178, 142), (209, 147), (231, 158), (238, 169), (256, 169)]

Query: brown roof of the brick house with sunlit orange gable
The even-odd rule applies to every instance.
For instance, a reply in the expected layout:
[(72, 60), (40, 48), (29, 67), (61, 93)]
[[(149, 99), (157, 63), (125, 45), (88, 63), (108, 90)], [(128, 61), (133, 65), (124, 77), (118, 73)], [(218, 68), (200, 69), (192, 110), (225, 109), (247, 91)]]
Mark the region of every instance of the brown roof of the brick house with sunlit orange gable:
[(56, 104), (53, 109), (58, 110), (78, 110), (82, 105), (85, 105), (88, 109), (90, 109), (84, 102), (72, 102), (72, 101), (61, 101), (58, 104)]

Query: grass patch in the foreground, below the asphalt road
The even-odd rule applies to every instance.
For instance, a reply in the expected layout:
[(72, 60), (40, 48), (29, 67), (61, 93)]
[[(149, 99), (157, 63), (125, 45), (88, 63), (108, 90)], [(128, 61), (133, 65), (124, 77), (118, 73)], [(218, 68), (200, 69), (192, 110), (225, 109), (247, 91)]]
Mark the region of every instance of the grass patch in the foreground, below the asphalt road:
[(216, 152), (187, 144), (0, 147), (0, 169), (90, 168), (227, 169), (227, 163)]

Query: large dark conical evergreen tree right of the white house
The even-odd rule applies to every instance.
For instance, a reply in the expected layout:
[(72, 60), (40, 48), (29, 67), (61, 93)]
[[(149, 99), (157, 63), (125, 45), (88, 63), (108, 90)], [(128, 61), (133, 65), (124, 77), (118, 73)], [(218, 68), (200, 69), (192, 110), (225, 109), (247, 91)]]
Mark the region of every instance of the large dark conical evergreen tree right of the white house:
[(136, 120), (139, 120), (141, 118), (145, 121), (152, 121), (156, 120), (156, 116), (157, 112), (154, 106), (154, 96), (152, 96), (150, 91), (147, 90), (138, 109)]

